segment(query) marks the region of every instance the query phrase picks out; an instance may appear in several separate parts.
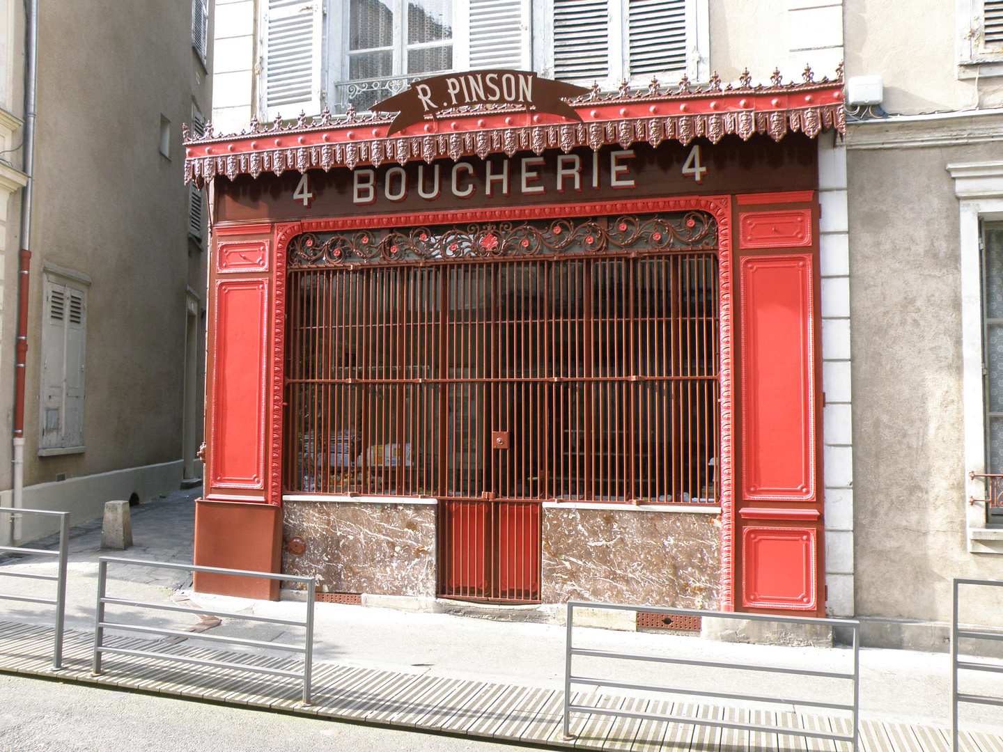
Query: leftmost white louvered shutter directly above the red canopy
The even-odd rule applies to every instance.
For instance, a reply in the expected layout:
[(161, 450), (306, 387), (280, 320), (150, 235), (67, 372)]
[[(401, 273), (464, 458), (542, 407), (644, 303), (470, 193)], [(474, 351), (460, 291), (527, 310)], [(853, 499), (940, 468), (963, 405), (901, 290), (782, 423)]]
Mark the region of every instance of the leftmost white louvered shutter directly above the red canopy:
[(276, 114), (320, 114), (323, 0), (267, 0), (264, 28), (264, 104)]

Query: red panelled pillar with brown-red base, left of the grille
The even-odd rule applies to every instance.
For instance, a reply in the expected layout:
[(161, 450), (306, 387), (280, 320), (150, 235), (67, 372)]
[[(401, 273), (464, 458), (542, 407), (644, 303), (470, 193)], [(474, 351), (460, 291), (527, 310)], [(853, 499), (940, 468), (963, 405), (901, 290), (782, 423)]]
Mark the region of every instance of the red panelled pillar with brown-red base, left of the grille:
[[(276, 291), (271, 225), (217, 227), (210, 259), (205, 497), (195, 563), (279, 572), (282, 508), (273, 455)], [(284, 270), (281, 272), (284, 275)], [(277, 285), (277, 282), (279, 284)], [(281, 327), (281, 325), (279, 325)], [(281, 349), (281, 344), (280, 344)], [(281, 366), (280, 366), (281, 368)], [(281, 371), (278, 374), (281, 382)], [(275, 482), (273, 482), (275, 481)], [(278, 581), (197, 573), (203, 593), (277, 600)]]

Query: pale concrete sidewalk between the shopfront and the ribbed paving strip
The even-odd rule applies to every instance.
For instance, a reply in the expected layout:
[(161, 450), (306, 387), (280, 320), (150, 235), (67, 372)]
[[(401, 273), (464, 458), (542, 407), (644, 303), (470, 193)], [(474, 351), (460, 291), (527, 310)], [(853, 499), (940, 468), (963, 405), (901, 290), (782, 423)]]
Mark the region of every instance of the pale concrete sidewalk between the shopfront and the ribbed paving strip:
[[(67, 585), (67, 628), (81, 632), (93, 629), (96, 593), (96, 560), (102, 554), (128, 558), (191, 562), (194, 522), (194, 492), (172, 495), (160, 501), (132, 507), (132, 529), (136, 545), (127, 551), (102, 551), (99, 525), (74, 528)], [(24, 572), (54, 571), (43, 557), (25, 556), (0, 561), (6, 569)], [(212, 610), (258, 616), (302, 619), (305, 605), (296, 601), (253, 602), (192, 594), (184, 573), (145, 568), (112, 567), (108, 590), (129, 600), (168, 603), (187, 597)], [(31, 581), (0, 578), (0, 592), (28, 593)], [(145, 626), (191, 629), (192, 615), (127, 614), (116, 619)], [(44, 607), (0, 602), (0, 620), (50, 624)], [(426, 614), (373, 609), (360, 606), (317, 604), (315, 652), (319, 662), (369, 670), (404, 672), (428, 677), (491, 682), (543, 690), (563, 688), (565, 629), (557, 625), (496, 622), (448, 614)], [(296, 643), (302, 633), (273, 625), (249, 625), (224, 620), (208, 634), (256, 640)], [(613, 632), (576, 628), (576, 646), (652, 655), (704, 658), (725, 663), (766, 662), (792, 667), (846, 671), (851, 666), (848, 649), (788, 648), (716, 643), (696, 637)], [(125, 633), (123, 633), (123, 636)], [(129, 637), (134, 638), (131, 633)], [(193, 644), (198, 638), (193, 635)], [(276, 655), (283, 655), (276, 651)], [(576, 659), (578, 660), (578, 659)], [(576, 673), (588, 672), (606, 681), (664, 684), (669, 673), (657, 664), (624, 662), (576, 663)], [(862, 717), (910, 724), (946, 726), (950, 720), (949, 658), (944, 654), (871, 650), (861, 652)], [(600, 673), (596, 673), (600, 672)], [(673, 667), (671, 681), (688, 689), (716, 688), (723, 691), (773, 694), (781, 697), (849, 701), (848, 683), (799, 679), (784, 675), (750, 674), (736, 670)], [(1003, 697), (1003, 675), (979, 675), (963, 691)], [(839, 694), (837, 694), (839, 693)], [(793, 709), (791, 704), (787, 709)], [(1003, 709), (967, 706), (963, 726), (983, 730), (1003, 729)]]

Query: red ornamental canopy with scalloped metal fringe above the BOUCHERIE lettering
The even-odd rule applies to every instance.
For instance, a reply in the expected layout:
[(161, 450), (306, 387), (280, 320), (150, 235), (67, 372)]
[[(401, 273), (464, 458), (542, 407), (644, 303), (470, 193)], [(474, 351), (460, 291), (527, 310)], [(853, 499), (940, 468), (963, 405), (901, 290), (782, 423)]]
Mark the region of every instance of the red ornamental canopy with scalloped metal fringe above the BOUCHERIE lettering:
[(484, 158), (498, 152), (513, 156), (524, 150), (542, 154), (548, 148), (568, 152), (612, 143), (628, 148), (638, 141), (657, 146), (676, 139), (686, 144), (698, 136), (717, 143), (728, 133), (746, 140), (753, 133), (774, 140), (788, 131), (810, 138), (828, 128), (845, 133), (843, 65), (833, 81), (815, 81), (808, 67), (802, 79), (784, 84), (775, 70), (769, 86), (753, 86), (745, 70), (737, 87), (722, 87), (715, 73), (703, 86), (691, 86), (683, 76), (676, 91), (664, 93), (654, 78), (647, 91), (631, 91), (625, 81), (619, 91), (605, 96), (593, 85), (588, 94), (567, 100), (582, 122), (513, 105), (476, 105), (440, 110), (392, 137), (387, 137), (392, 113), (359, 115), (351, 107), (340, 116), (326, 107), (319, 118), (301, 112), (289, 125), (281, 115), (271, 127), (252, 118), (250, 131), (226, 136), (216, 135), (207, 123), (201, 137), (190, 137), (184, 128), (185, 182), (195, 180), (202, 187), (216, 175), (234, 179), (265, 171), (280, 175), (287, 169), (352, 169), (409, 159), (456, 160), (471, 154)]

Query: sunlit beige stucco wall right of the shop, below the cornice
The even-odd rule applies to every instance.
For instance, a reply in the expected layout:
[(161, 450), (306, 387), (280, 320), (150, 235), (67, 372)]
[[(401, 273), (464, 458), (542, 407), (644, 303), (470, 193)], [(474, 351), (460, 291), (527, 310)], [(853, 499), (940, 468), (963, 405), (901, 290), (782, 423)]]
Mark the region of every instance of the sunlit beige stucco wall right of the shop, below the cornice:
[(856, 150), (853, 135), (856, 610), (948, 622), (951, 578), (1003, 577), (1003, 555), (967, 549), (959, 205), (945, 169), (993, 145)]

